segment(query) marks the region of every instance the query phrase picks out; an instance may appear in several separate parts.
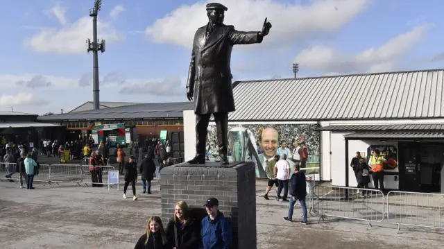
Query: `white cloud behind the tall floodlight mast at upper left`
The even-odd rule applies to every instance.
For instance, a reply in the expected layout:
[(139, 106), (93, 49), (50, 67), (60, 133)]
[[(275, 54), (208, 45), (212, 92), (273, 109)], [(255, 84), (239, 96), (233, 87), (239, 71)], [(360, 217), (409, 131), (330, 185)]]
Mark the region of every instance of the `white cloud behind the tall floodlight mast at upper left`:
[[(40, 53), (86, 53), (85, 40), (87, 37), (92, 38), (92, 17), (87, 15), (74, 23), (69, 23), (62, 10), (62, 7), (56, 6), (51, 11), (61, 24), (65, 23), (61, 28), (41, 28), (40, 33), (26, 39), (24, 45)], [(99, 38), (105, 39), (108, 43), (123, 40), (123, 36), (115, 30), (112, 22), (99, 19), (97, 28)]]

